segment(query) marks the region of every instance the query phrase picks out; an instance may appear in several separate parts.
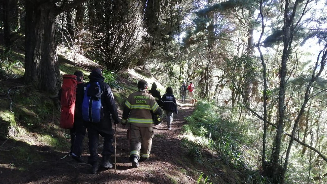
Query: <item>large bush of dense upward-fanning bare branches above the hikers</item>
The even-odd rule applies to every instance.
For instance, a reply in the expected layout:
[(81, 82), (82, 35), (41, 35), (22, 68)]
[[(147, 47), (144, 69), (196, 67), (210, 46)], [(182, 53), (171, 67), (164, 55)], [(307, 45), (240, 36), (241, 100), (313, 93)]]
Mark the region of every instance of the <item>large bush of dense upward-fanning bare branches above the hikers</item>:
[[(92, 58), (114, 71), (135, 63), (142, 46), (144, 29), (142, 14), (136, 0), (93, 1)], [(128, 9), (129, 11), (125, 11)], [(113, 36), (114, 35), (114, 36)]]

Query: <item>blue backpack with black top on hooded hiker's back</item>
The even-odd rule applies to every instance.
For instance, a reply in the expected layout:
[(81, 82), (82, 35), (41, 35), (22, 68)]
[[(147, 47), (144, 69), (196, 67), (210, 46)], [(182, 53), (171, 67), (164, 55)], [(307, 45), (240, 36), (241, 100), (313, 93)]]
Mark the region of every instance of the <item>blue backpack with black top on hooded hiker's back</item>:
[(98, 82), (88, 83), (84, 87), (82, 117), (84, 121), (98, 123), (104, 117), (101, 103), (101, 89)]

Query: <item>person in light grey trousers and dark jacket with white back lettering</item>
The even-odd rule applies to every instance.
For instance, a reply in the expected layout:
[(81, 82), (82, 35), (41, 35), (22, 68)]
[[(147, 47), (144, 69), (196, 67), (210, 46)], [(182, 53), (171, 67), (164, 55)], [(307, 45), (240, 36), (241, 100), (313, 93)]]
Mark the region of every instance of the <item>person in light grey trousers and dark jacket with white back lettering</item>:
[(167, 87), (166, 93), (161, 98), (163, 103), (163, 110), (166, 114), (166, 122), (168, 126), (168, 130), (171, 130), (171, 122), (173, 121), (173, 113), (178, 114), (177, 104), (175, 96), (173, 95), (173, 89), (171, 87)]

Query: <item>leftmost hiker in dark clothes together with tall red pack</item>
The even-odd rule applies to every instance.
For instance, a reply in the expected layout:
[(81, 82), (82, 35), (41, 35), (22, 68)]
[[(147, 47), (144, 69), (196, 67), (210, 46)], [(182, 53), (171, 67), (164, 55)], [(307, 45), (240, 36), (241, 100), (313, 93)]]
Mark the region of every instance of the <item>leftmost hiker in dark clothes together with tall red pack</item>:
[(81, 154), (86, 132), (80, 108), (83, 100), (83, 80), (84, 74), (79, 70), (74, 75), (64, 75), (64, 82), (58, 95), (61, 101), (60, 127), (69, 129), (71, 140), (69, 156), (77, 162), (83, 162)]

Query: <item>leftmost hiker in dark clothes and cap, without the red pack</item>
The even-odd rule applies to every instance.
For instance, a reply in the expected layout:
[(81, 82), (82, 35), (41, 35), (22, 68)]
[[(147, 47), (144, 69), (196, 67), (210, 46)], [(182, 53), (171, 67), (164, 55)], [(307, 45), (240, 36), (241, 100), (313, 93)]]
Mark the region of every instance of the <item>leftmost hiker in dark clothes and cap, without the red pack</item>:
[[(76, 75), (77, 79), (77, 89), (76, 89), (76, 102), (75, 102), (75, 113), (74, 113), (74, 124), (73, 128), (69, 129), (70, 134), (70, 141), (71, 141), (71, 147), (69, 156), (72, 157), (77, 162), (83, 162), (84, 159), (81, 156), (82, 150), (83, 150), (83, 139), (85, 137), (85, 126), (83, 124), (82, 114), (80, 105), (83, 101), (82, 93), (83, 93), (83, 80), (84, 80), (84, 74), (83, 72), (77, 70), (75, 71), (74, 75)], [(61, 100), (61, 89), (59, 91), (58, 97), (59, 100)]]

